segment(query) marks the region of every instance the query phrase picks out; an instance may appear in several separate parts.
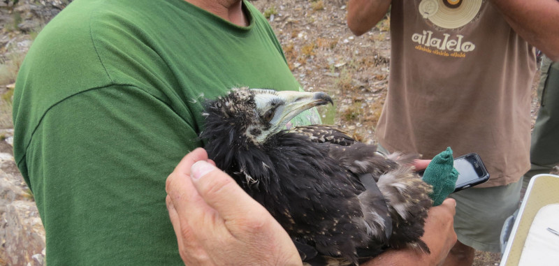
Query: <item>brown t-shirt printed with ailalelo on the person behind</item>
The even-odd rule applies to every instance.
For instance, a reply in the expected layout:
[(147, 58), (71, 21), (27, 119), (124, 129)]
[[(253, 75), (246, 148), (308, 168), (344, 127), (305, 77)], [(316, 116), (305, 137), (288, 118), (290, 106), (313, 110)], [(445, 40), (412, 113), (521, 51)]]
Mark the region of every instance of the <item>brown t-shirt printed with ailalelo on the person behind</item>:
[[(471, 8), (468, 1), (475, 0), (462, 5)], [(442, 0), (392, 1), (390, 83), (377, 139), (390, 152), (423, 158), (446, 147), (455, 157), (477, 152), (491, 175), (481, 186), (498, 186), (530, 168), (535, 50), (493, 4), (477, 2), (479, 11), (450, 29), (453, 17), (435, 13)]]

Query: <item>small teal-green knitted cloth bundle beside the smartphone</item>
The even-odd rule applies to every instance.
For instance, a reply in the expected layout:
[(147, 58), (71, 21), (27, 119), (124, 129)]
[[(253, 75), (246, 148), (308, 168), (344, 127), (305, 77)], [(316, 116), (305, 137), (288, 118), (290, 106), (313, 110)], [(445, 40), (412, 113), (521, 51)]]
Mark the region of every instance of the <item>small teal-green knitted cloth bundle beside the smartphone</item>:
[(450, 193), (454, 191), (458, 171), (453, 167), (452, 149), (437, 154), (423, 173), (423, 181), (433, 186), (433, 193), (429, 196), (433, 206), (441, 205)]

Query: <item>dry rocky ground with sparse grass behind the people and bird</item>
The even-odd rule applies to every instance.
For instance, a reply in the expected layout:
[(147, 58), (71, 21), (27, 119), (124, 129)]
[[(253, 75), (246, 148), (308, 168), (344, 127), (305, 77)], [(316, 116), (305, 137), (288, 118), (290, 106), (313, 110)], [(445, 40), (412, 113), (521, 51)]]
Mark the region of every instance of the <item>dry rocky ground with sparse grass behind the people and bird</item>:
[[(0, 30), (0, 94), (4, 99), (9, 100), (17, 68), (41, 25), (66, 3), (68, 1), (20, 0), (17, 6), (11, 6), (11, 3), (5, 5), (0, 1), (0, 24), (3, 26)], [(252, 3), (269, 18), (300, 84), (308, 91), (325, 91), (333, 96), (335, 106), (321, 110), (323, 121), (343, 126), (358, 140), (375, 142), (375, 126), (388, 87), (389, 20), (383, 20), (368, 34), (356, 37), (345, 22), (346, 0), (259, 0)], [(9, 101), (0, 101), (0, 128), (6, 128), (0, 131), (0, 137), (8, 141), (13, 132), (10, 130), (10, 106)], [(533, 119), (536, 114), (537, 101), (534, 100)], [(36, 207), (11, 153), (8, 142), (1, 141), (0, 176), (4, 180), (0, 185), (0, 265), (42, 265), (44, 231), (41, 231)], [(17, 223), (19, 227), (14, 226)], [(499, 261), (499, 254), (478, 252), (474, 265), (498, 265)]]

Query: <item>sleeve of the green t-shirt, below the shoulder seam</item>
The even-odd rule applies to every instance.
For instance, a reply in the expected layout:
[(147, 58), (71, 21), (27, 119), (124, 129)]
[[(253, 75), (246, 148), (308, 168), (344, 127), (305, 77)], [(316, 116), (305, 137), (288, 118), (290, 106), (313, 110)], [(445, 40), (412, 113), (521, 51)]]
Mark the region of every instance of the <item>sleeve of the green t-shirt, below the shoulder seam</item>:
[(91, 89), (48, 110), (27, 147), (55, 265), (182, 265), (166, 177), (201, 146), (173, 108), (130, 86)]

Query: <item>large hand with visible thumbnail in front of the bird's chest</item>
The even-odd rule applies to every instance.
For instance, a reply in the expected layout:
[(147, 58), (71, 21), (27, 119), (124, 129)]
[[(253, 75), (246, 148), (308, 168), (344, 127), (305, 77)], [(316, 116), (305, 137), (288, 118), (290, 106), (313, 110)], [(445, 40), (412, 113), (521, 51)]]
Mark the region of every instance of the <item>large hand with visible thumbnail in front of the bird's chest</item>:
[(287, 232), (204, 149), (166, 183), (167, 209), (185, 265), (301, 265)]

